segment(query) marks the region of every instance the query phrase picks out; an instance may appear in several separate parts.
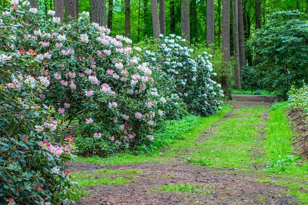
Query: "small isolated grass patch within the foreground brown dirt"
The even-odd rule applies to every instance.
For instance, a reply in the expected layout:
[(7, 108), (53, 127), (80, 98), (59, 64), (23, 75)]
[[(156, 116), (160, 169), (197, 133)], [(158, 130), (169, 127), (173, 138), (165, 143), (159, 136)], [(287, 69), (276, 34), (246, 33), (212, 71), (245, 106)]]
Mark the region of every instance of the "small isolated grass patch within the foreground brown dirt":
[(164, 185), (153, 190), (162, 190), (164, 192), (185, 192), (189, 194), (210, 195), (214, 193), (214, 186), (191, 185), (188, 183), (180, 185)]

